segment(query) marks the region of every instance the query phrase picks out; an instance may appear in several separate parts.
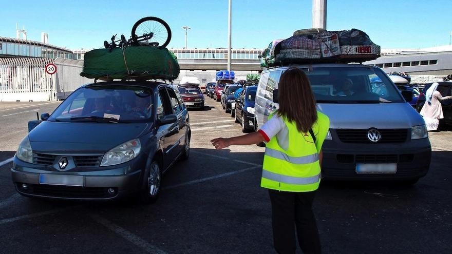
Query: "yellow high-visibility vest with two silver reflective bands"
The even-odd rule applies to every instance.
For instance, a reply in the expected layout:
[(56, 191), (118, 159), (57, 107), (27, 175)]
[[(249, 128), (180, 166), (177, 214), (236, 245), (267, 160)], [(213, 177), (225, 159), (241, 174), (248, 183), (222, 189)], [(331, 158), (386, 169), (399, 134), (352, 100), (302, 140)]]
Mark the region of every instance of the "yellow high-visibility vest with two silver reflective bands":
[[(269, 119), (272, 117), (270, 115)], [(315, 143), (309, 132), (300, 133), (295, 123), (284, 117), (283, 120), (289, 130), (289, 146), (287, 150), (281, 148), (276, 135), (267, 143), (260, 186), (292, 192), (316, 190), (321, 179), (318, 153), (328, 133), (330, 120), (317, 111), (317, 121), (312, 126)]]

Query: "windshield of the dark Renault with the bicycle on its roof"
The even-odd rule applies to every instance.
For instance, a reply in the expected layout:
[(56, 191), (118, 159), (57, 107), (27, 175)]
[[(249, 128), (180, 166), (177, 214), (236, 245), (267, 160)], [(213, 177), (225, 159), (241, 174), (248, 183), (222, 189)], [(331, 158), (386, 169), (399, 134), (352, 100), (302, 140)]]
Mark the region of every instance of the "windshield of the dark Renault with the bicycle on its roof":
[(48, 121), (109, 123), (148, 120), (152, 115), (152, 94), (149, 88), (138, 86), (80, 88), (64, 100)]

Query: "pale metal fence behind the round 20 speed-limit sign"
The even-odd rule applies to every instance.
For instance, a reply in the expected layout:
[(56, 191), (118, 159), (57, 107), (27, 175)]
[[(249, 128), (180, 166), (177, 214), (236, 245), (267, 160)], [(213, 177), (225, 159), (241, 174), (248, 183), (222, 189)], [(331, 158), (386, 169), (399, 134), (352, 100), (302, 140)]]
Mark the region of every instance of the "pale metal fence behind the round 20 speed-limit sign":
[[(57, 71), (49, 75), (45, 66)], [(0, 58), (0, 101), (54, 101), (64, 99), (83, 84), (92, 82), (80, 76), (83, 61), (66, 58)]]

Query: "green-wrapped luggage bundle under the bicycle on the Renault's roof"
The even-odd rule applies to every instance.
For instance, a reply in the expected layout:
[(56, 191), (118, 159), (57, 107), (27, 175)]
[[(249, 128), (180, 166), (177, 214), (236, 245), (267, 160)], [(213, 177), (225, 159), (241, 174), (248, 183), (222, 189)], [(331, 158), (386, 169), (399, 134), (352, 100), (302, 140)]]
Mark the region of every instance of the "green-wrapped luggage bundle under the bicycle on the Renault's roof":
[(151, 46), (95, 49), (85, 54), (81, 76), (88, 79), (143, 79), (173, 81), (179, 75), (176, 56)]

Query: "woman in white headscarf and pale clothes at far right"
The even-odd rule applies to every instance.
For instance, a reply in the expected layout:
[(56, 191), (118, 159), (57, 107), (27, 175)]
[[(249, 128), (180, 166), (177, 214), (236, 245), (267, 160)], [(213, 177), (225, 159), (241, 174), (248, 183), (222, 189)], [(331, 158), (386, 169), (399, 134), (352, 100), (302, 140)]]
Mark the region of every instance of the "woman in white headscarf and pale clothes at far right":
[(427, 130), (437, 130), (439, 120), (444, 118), (441, 102), (452, 99), (452, 96), (442, 96), (438, 89), (438, 83), (433, 83), (425, 92), (425, 103), (421, 109)]

